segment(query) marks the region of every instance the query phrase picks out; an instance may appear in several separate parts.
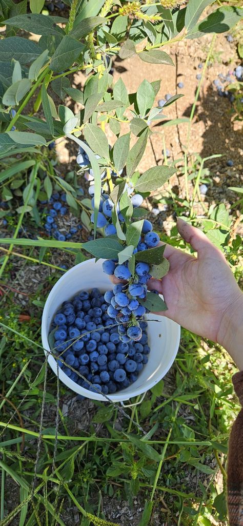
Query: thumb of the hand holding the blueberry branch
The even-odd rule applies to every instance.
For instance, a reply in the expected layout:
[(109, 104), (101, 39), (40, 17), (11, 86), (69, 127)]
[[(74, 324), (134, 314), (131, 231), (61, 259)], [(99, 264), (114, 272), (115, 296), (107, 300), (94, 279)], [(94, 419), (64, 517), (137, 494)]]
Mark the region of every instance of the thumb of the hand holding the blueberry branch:
[(218, 249), (209, 241), (207, 236), (205, 236), (204, 232), (199, 230), (199, 228), (191, 226), (189, 223), (181, 219), (180, 217), (177, 218), (177, 230), (181, 237), (185, 239), (187, 243), (190, 244), (190, 246), (198, 252), (198, 255), (201, 254), (207, 254), (218, 252)]

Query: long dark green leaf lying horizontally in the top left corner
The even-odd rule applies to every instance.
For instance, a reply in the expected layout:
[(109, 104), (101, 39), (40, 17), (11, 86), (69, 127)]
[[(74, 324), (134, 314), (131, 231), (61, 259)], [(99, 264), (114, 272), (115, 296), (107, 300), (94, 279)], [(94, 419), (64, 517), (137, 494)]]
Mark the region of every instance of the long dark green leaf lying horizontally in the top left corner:
[(44, 16), (28, 13), (27, 15), (18, 15), (5, 20), (9, 26), (19, 27), (24, 31), (30, 31), (35, 35), (65, 35), (62, 28), (57, 23), (68, 22), (66, 18), (60, 16)]

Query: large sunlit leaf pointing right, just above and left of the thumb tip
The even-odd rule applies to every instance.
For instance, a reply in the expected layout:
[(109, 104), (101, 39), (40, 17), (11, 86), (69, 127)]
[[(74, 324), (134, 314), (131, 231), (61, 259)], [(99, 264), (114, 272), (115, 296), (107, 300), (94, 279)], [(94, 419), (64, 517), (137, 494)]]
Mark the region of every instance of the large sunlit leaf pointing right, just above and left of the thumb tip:
[(170, 166), (153, 166), (144, 172), (138, 179), (135, 190), (141, 193), (157, 190), (168, 181), (176, 169)]

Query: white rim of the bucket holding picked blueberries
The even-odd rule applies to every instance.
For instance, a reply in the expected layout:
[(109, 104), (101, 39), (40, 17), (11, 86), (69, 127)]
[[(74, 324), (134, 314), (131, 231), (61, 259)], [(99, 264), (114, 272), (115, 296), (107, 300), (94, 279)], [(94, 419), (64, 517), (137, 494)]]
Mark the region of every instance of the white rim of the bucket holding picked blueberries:
[[(102, 265), (103, 261), (105, 261), (105, 260), (104, 259), (99, 259), (97, 263), (99, 263), (99, 265)], [(78, 265), (75, 265), (74, 267), (72, 267), (69, 270), (67, 270), (67, 272), (65, 272), (65, 274), (57, 280), (56, 284), (54, 285), (52, 290), (50, 290), (50, 292), (49, 292), (49, 295), (48, 295), (47, 300), (45, 302), (43, 315), (42, 315), (42, 345), (43, 345), (43, 350), (44, 350), (45, 355), (47, 355), (47, 353), (49, 351), (51, 351), (51, 349), (49, 347), (49, 343), (48, 343), (48, 333), (47, 333), (46, 328), (45, 328), (45, 323), (46, 323), (46, 319), (48, 319), (49, 308), (50, 308), (50, 305), (52, 305), (52, 300), (53, 300), (53, 297), (56, 294), (56, 289), (59, 288), (59, 285), (60, 285), (60, 283), (62, 283), (62, 281), (65, 281), (67, 275), (70, 277), (70, 275), (72, 275), (74, 272), (76, 272), (78, 268), (84, 268), (84, 266), (90, 265), (90, 262), (92, 262), (92, 263), (95, 262), (95, 258), (87, 259), (86, 261), (82, 261)], [(88, 289), (89, 288), (92, 288), (92, 286), (89, 286)], [(102, 285), (100, 285), (100, 289), (102, 289), (102, 288), (103, 288)], [(82, 291), (82, 290), (86, 290), (86, 289), (83, 288), (83, 287), (80, 287), (80, 288), (77, 287), (77, 292)], [(108, 290), (108, 288), (107, 288), (107, 290)], [(112, 290), (112, 282), (110, 282), (110, 290)], [(161, 298), (163, 298), (163, 296), (161, 296)], [(67, 299), (69, 299), (69, 298), (67, 298)], [(65, 300), (62, 299), (62, 301), (60, 302), (60, 305), (62, 305), (63, 301), (65, 301)], [(151, 316), (151, 315), (149, 315), (149, 316)], [(154, 313), (153, 313), (153, 317), (154, 318), (158, 318), (158, 321), (161, 320), (161, 318), (162, 318), (161, 316), (158, 316), (158, 315), (156, 315)], [(163, 317), (163, 318), (165, 318), (165, 317)], [(51, 322), (52, 319), (53, 319), (53, 316), (52, 316), (52, 318), (50, 318), (49, 321)], [(145, 320), (149, 321), (149, 319), (147, 319), (146, 315), (145, 315)], [(173, 322), (173, 323), (175, 323), (175, 322)], [(77, 394), (83, 395), (84, 397), (89, 398), (91, 400), (99, 400), (99, 401), (102, 401), (102, 402), (107, 402), (109, 400), (112, 401), (112, 402), (122, 402), (122, 401), (129, 400), (130, 398), (137, 397), (138, 395), (141, 395), (144, 392), (146, 392), (149, 389), (151, 389), (152, 387), (154, 387), (162, 378), (165, 377), (165, 375), (167, 374), (167, 372), (169, 371), (169, 369), (173, 365), (173, 363), (175, 361), (175, 358), (176, 358), (176, 355), (177, 355), (177, 352), (178, 352), (179, 342), (180, 342), (180, 326), (178, 325), (178, 323), (175, 323), (175, 327), (177, 329), (176, 345), (175, 345), (174, 352), (171, 353), (171, 358), (170, 358), (170, 360), (168, 362), (167, 367), (165, 369), (163, 369), (163, 371), (161, 372), (161, 375), (159, 375), (156, 380), (151, 379), (151, 381), (146, 384), (146, 388), (140, 387), (140, 388), (135, 389), (134, 394), (126, 392), (127, 389), (130, 389), (130, 386), (127, 387), (126, 389), (118, 392), (117, 394), (110, 393), (110, 394), (108, 394), (106, 396), (104, 396), (102, 393), (98, 393), (98, 392), (96, 393), (96, 392), (93, 392), (93, 391), (89, 391), (88, 389), (84, 389), (83, 387), (79, 386), (73, 380), (70, 380), (70, 378), (65, 375), (65, 373), (62, 371), (61, 368), (59, 368), (59, 380), (62, 381), (64, 383), (64, 385), (66, 387), (68, 387), (69, 389), (72, 389)], [(149, 336), (149, 331), (148, 331), (148, 336)], [(56, 362), (55, 358), (52, 355), (49, 354), (48, 358), (47, 358), (47, 361), (49, 363), (50, 368), (53, 370), (53, 372), (57, 376), (57, 362)], [(138, 380), (136, 380), (136, 381), (138, 381)], [(136, 382), (134, 382), (133, 386), (135, 386), (135, 385), (136, 385)]]

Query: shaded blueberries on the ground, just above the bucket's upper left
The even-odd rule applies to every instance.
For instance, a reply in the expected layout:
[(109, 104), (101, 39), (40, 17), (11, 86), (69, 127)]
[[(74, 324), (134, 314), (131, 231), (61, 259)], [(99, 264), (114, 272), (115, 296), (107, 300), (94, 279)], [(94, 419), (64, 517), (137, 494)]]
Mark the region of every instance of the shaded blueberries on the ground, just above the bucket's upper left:
[[(42, 201), (42, 203), (46, 204), (47, 201)], [(58, 226), (56, 224), (58, 215), (65, 216), (68, 211), (66, 206), (66, 194), (59, 194), (58, 192), (53, 193), (52, 197), (50, 197), (48, 201), (48, 204), (51, 205), (51, 208), (48, 210), (44, 228), (49, 236), (52, 235), (58, 241), (66, 241), (66, 239), (70, 239), (74, 234), (76, 234), (78, 230), (83, 228), (82, 225), (70, 227), (69, 232), (66, 232), (65, 235), (58, 230)]]

